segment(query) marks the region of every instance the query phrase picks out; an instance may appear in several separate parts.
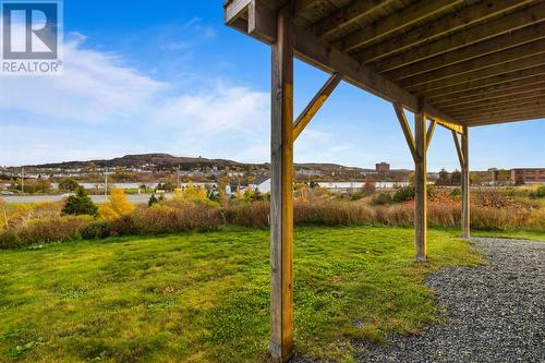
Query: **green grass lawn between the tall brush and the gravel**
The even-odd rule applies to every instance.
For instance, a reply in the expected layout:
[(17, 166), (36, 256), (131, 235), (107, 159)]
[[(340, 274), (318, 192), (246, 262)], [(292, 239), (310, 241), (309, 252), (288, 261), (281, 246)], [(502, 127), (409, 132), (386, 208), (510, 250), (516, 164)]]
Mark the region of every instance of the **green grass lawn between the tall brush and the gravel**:
[[(481, 262), (459, 231), (295, 231), (296, 350), (351, 361), (353, 339), (414, 332), (444, 317), (431, 270)], [(268, 231), (227, 229), (0, 252), (1, 362), (263, 362)]]

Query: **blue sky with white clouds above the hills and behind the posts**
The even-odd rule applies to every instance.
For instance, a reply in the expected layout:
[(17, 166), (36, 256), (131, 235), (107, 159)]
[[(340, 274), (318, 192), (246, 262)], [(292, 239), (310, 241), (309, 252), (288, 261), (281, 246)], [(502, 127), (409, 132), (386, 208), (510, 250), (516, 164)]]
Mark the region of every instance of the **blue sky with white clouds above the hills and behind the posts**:
[[(0, 165), (136, 153), (269, 159), (270, 50), (222, 24), (222, 0), (64, 1), (64, 74), (3, 77)], [(295, 114), (327, 75), (295, 62)], [(544, 120), (470, 130), (472, 169), (545, 166)], [(298, 162), (412, 168), (391, 105), (341, 84)], [(428, 170), (458, 168), (441, 128)]]

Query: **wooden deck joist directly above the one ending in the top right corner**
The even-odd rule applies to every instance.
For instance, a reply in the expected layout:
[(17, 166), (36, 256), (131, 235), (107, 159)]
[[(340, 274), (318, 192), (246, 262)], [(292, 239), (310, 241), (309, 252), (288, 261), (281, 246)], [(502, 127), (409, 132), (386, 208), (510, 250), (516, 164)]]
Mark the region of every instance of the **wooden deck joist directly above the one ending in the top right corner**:
[(403, 33), (403, 36), (391, 37), (365, 48), (358, 52), (355, 58), (364, 63), (375, 62), (532, 1), (535, 0), (481, 1), (471, 7), (448, 13), (425, 25), (412, 28)]

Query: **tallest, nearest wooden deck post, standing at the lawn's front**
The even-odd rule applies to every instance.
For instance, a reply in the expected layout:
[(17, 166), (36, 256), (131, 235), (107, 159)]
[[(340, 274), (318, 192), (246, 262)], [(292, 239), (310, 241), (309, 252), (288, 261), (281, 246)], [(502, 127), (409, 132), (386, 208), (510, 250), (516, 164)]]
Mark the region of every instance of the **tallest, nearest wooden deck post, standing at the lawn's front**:
[(271, 60), (270, 355), (293, 353), (293, 35), (291, 11), (277, 17)]

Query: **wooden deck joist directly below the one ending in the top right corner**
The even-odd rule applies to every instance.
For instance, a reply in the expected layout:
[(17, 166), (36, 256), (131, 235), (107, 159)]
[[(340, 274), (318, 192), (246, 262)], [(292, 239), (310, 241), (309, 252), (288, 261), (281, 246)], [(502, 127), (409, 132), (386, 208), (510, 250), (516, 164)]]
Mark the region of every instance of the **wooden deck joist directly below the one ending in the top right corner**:
[[(545, 19), (543, 19), (545, 20)], [(471, 47), (464, 47), (452, 52), (443, 53), (433, 58), (396, 69), (389, 72), (379, 72), (389, 80), (401, 80), (422, 73), (432, 72), (441, 68), (453, 65), (467, 60), (483, 57), (489, 53), (500, 52), (502, 50), (532, 43), (545, 38), (545, 22), (536, 25), (526, 26), (512, 33), (504, 34), (484, 41), (476, 43)], [(543, 49), (542, 49), (543, 50)], [(501, 61), (505, 61), (504, 55), (499, 53)], [(518, 55), (522, 58), (522, 53)], [(471, 69), (464, 68), (465, 71)]]

